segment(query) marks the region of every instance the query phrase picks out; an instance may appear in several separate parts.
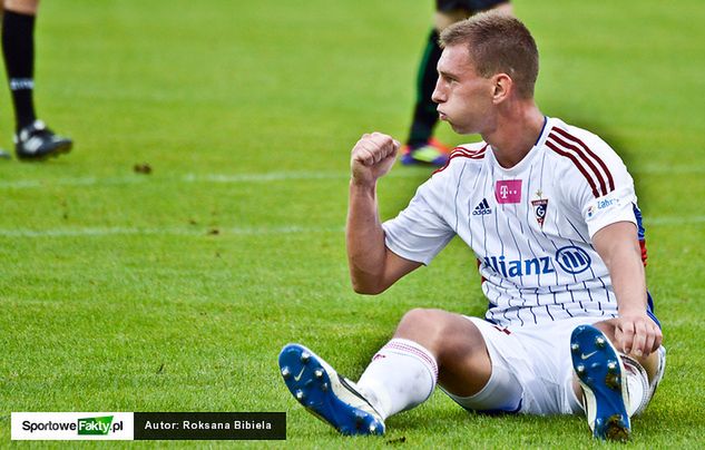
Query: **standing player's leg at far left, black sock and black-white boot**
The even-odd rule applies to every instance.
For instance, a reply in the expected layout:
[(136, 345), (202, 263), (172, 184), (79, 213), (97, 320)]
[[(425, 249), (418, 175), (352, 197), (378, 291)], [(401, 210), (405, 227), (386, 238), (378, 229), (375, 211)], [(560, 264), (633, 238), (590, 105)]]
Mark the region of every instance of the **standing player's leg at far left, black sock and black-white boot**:
[(35, 113), (35, 19), (39, 0), (4, 0), (2, 4), (2, 56), (14, 107), (17, 157), (42, 160), (68, 153), (71, 139), (53, 134)]

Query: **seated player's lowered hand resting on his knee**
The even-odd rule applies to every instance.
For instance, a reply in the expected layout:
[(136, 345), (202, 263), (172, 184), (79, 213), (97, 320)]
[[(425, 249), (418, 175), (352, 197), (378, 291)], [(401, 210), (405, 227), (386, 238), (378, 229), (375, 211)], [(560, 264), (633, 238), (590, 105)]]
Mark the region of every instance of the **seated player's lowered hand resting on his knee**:
[(617, 350), (626, 354), (648, 356), (660, 346), (660, 329), (646, 312), (620, 314), (615, 325)]

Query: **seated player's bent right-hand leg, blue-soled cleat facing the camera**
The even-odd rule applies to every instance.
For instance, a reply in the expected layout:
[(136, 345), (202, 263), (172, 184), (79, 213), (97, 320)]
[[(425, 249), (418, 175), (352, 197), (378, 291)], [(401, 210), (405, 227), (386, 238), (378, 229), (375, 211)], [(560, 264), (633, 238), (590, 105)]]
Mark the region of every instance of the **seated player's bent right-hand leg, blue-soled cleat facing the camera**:
[(647, 358), (620, 354), (613, 345), (614, 321), (581, 325), (570, 339), (577, 379), (574, 390), (584, 399), (584, 409), (594, 436), (626, 440), (630, 417), (648, 404), (663, 376), (665, 351)]

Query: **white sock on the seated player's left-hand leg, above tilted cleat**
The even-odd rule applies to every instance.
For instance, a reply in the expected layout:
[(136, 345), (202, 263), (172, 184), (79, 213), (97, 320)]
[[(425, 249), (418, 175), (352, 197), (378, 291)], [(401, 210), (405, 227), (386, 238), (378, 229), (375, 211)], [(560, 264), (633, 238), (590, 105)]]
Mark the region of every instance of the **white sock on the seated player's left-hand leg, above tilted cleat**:
[(424, 402), (435, 387), (438, 364), (423, 346), (392, 339), (372, 358), (356, 383), (382, 419)]

